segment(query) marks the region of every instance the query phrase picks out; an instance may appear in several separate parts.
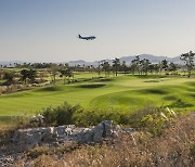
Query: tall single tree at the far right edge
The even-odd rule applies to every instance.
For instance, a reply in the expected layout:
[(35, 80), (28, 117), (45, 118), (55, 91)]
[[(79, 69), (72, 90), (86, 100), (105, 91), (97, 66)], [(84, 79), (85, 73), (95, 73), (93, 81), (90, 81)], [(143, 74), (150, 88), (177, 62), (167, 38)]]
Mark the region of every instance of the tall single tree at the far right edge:
[(194, 55), (195, 55), (195, 53), (190, 51), (188, 53), (183, 53), (180, 56), (180, 59), (185, 63), (185, 66), (187, 68), (188, 78), (191, 77), (191, 70), (194, 66)]

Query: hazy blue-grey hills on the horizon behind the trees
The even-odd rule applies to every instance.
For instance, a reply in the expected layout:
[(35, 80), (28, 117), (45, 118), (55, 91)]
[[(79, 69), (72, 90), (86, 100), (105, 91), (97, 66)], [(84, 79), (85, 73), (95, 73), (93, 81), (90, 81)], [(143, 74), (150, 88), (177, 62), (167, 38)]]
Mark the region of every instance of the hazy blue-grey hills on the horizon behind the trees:
[[(130, 64), (131, 61), (135, 57), (135, 55), (128, 55), (128, 56), (121, 56), (120, 61), (126, 61), (127, 64)], [(168, 57), (168, 56), (156, 56), (156, 55), (152, 55), (152, 54), (140, 54), (141, 59), (147, 59), (150, 60), (152, 63), (158, 63), (162, 60), (167, 60), (169, 62), (173, 62), (177, 64), (183, 64), (183, 62), (180, 60), (180, 56), (176, 56), (176, 57)], [(107, 61), (112, 64), (113, 60), (100, 60), (100, 61), (94, 61), (94, 62), (86, 62), (83, 60), (78, 60), (78, 61), (69, 61), (69, 62), (63, 62), (63, 63), (68, 63), (70, 66), (75, 66), (75, 65), (80, 65), (80, 66), (89, 66), (89, 65), (93, 65), (93, 66), (98, 66), (99, 63), (101, 61)], [(6, 65), (6, 66), (13, 66), (14, 63), (17, 64), (24, 64), (24, 62), (22, 61), (10, 61), (10, 62), (0, 62), (0, 65)], [(62, 63), (62, 62), (60, 62)]]

